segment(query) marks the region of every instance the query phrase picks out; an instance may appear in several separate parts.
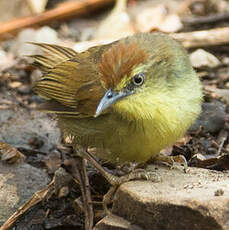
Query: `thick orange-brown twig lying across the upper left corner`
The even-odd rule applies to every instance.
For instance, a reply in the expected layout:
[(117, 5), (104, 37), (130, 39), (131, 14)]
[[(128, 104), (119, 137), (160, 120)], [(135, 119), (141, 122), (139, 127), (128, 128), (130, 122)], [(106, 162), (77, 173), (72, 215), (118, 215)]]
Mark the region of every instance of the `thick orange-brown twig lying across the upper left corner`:
[(6, 39), (10, 35), (12, 36), (12, 34), (18, 32), (18, 30), (26, 27), (40, 26), (48, 24), (54, 20), (62, 20), (73, 16), (77, 17), (83, 14), (88, 14), (92, 10), (108, 5), (113, 1), (114, 0), (84, 0), (62, 3), (56, 8), (47, 10), (42, 14), (32, 17), (19, 18), (1, 24), (0, 39)]

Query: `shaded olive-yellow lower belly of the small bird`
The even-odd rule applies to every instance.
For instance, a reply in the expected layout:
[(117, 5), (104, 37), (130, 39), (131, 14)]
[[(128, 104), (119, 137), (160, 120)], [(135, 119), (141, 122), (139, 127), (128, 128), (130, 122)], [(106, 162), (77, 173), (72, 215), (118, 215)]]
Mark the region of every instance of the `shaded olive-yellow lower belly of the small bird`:
[(96, 148), (96, 155), (111, 162), (144, 162), (172, 144), (179, 136), (160, 132), (152, 121), (138, 124), (104, 115), (97, 119), (60, 119), (74, 144)]

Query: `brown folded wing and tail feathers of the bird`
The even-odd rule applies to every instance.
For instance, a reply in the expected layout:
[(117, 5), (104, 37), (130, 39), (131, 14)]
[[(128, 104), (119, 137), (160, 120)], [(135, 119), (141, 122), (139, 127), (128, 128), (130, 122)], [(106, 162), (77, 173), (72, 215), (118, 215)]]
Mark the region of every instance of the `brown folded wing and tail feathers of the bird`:
[(78, 54), (66, 47), (34, 44), (44, 52), (32, 56), (34, 65), (44, 74), (33, 85), (34, 91), (48, 100), (41, 109), (63, 116), (93, 116), (105, 92), (99, 80), (98, 60), (93, 61), (89, 51)]

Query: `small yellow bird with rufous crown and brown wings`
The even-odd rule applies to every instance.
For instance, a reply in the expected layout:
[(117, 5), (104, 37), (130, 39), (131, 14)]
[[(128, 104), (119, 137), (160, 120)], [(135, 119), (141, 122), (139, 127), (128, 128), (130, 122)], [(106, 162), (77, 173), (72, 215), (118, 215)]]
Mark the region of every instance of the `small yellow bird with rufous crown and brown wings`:
[(182, 137), (201, 111), (202, 87), (185, 49), (162, 33), (138, 33), (77, 53), (36, 44), (47, 99), (73, 148), (111, 162), (145, 162)]

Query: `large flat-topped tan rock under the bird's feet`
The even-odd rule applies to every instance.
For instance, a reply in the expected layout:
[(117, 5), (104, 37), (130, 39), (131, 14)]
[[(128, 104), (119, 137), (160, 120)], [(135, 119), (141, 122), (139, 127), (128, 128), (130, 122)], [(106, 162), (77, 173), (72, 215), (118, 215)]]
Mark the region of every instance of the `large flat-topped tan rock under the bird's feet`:
[[(142, 229), (229, 229), (229, 172), (189, 168), (184, 173), (181, 168), (171, 170), (155, 165), (149, 168), (162, 181), (122, 184), (114, 198), (113, 214)], [(216, 196), (219, 190), (223, 192)], [(97, 224), (96, 230), (115, 229), (109, 224), (103, 228)]]

